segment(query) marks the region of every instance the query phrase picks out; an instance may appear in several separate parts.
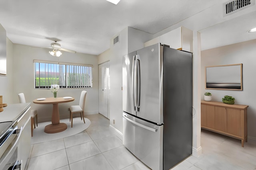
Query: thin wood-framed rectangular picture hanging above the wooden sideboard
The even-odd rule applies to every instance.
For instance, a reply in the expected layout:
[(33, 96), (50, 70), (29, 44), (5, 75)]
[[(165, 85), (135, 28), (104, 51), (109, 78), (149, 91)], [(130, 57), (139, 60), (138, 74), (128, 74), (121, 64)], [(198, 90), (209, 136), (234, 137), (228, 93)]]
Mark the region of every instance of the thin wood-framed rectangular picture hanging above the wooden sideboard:
[(205, 67), (205, 88), (243, 90), (242, 64)]

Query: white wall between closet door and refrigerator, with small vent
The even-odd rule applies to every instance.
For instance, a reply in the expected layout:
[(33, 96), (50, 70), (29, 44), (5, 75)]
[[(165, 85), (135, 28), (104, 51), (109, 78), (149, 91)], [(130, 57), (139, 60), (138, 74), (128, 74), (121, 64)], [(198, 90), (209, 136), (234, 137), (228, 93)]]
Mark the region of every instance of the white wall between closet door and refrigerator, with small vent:
[[(119, 42), (113, 44), (114, 38), (119, 35)], [(138, 29), (127, 27), (110, 39), (110, 49), (98, 55), (98, 64), (110, 60), (110, 126), (120, 135), (123, 132), (122, 122), (122, 58), (124, 55), (142, 49), (144, 42), (152, 35)], [(115, 124), (113, 124), (113, 119)], [(119, 137), (121, 138), (121, 136)]]

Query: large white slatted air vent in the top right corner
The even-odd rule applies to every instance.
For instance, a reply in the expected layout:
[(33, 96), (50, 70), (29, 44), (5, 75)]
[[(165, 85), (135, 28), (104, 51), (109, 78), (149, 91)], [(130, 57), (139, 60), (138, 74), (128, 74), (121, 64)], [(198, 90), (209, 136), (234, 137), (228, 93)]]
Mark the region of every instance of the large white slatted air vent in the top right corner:
[(231, 0), (223, 4), (224, 16), (234, 14), (240, 10), (254, 6), (254, 0)]

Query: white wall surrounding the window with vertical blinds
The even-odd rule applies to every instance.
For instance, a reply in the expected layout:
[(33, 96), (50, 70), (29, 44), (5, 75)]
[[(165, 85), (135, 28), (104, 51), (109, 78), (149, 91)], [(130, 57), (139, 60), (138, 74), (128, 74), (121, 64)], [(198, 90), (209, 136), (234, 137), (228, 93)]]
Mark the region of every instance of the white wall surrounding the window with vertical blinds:
[[(60, 61), (68, 63), (92, 64), (93, 88), (82, 89), (60, 89), (57, 97), (72, 96), (73, 102), (59, 104), (60, 119), (68, 118), (68, 107), (78, 105), (80, 93), (87, 91), (85, 114), (98, 113), (98, 57), (95, 55), (86, 55), (81, 53), (62, 52), (60, 57), (52, 57), (48, 53), (49, 49), (32, 48), (27, 45), (13, 45), (12, 74), (8, 74), (13, 80), (12, 102), (19, 103), (18, 94), (23, 92), (26, 102), (31, 102), (32, 108), (38, 111), (38, 121), (50, 121), (52, 115), (52, 105), (34, 104), (32, 101), (36, 98), (52, 97), (50, 89), (34, 89), (34, 63), (33, 60)], [(8, 61), (9, 62), (9, 61)], [(12, 85), (11, 84), (11, 85)]]

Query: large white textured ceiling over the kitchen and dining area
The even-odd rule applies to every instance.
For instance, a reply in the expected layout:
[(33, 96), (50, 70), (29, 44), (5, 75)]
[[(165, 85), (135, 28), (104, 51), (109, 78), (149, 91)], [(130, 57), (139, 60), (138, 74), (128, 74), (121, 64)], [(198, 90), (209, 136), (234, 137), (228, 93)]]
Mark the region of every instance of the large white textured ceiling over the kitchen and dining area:
[[(157, 33), (224, 0), (1, 0), (0, 23), (12, 43), (98, 55), (126, 27)], [(206, 32), (206, 30), (203, 30)]]

